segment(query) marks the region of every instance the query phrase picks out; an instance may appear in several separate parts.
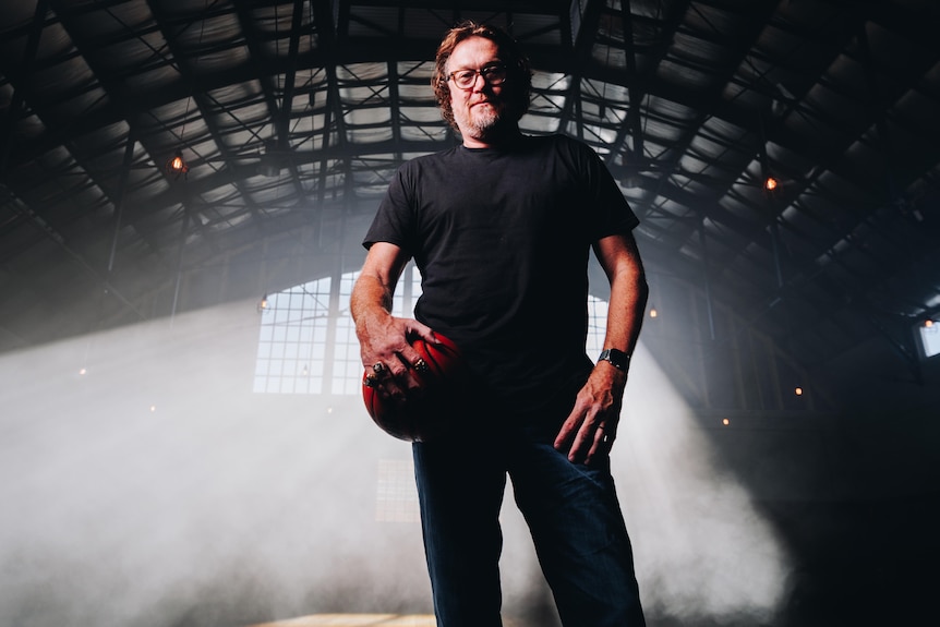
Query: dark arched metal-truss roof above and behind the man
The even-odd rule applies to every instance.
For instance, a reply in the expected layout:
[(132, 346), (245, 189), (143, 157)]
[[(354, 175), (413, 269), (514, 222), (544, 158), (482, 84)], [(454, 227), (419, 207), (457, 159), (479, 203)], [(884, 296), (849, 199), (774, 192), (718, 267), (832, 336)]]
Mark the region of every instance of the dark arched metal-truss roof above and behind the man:
[[(880, 334), (916, 370), (908, 327), (940, 308), (928, 0), (7, 3), (0, 289), (48, 316), (105, 285), (118, 322), (272, 238), (355, 241), (402, 159), (456, 141), (429, 60), (463, 19), (530, 52), (523, 130), (604, 157), (651, 272), (800, 363)], [(3, 346), (69, 333), (23, 313)]]

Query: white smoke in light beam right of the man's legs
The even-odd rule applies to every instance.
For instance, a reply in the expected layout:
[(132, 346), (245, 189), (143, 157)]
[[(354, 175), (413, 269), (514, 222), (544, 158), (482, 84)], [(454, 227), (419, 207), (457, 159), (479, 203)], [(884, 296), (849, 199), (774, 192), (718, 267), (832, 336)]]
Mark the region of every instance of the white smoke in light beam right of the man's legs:
[(648, 614), (770, 624), (787, 556), (642, 346), (613, 456)]

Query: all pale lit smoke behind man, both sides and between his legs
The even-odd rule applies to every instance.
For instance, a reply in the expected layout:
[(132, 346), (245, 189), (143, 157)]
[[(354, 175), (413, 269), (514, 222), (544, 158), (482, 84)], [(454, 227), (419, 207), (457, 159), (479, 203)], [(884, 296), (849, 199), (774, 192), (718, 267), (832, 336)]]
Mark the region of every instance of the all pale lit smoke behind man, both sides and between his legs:
[[(355, 396), (251, 394), (256, 315), (236, 303), (0, 358), (0, 624), (431, 612), (420, 526), (376, 516), (379, 462), (407, 467), (410, 447)], [(773, 534), (643, 353), (614, 462), (651, 616), (774, 607)], [(507, 625), (547, 627), (506, 501)]]

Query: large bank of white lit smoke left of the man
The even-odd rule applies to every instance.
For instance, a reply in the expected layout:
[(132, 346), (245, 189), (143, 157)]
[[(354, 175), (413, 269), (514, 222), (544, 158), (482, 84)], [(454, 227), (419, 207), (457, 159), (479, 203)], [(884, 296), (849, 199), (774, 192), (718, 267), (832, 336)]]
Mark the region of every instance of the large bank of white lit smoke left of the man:
[(427, 610), (420, 530), (375, 521), (375, 460), (408, 445), (357, 398), (246, 393), (255, 315), (0, 360), (0, 624), (238, 625), (414, 596)]

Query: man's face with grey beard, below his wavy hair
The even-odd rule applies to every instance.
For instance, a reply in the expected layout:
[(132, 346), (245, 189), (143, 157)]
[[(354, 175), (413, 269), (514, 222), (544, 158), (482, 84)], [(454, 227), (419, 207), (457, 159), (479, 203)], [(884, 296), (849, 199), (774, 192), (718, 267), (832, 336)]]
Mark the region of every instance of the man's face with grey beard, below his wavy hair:
[[(447, 72), (449, 75), (458, 70), (480, 70), (499, 61), (496, 44), (485, 37), (470, 37), (454, 48), (447, 60)], [(467, 89), (459, 88), (454, 81), (448, 81), (447, 85), (450, 89), (454, 121), (463, 135), (465, 145), (485, 143), (486, 136), (501, 121), (507, 121), (507, 106), (503, 97), (506, 83), (490, 85), (483, 76), (478, 75), (473, 85)]]

